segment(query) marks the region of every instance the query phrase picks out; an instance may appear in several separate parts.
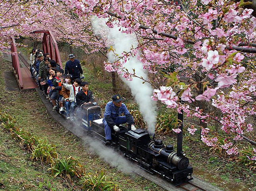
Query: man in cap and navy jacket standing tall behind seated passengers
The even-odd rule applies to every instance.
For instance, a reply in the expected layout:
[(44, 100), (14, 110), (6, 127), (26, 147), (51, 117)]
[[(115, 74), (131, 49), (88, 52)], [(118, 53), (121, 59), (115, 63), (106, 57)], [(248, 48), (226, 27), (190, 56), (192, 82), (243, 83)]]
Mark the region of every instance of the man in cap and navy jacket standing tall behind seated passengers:
[(71, 74), (73, 79), (80, 78), (80, 75), (83, 74), (79, 60), (75, 59), (73, 54), (70, 54), (69, 61), (65, 64), (65, 74)]

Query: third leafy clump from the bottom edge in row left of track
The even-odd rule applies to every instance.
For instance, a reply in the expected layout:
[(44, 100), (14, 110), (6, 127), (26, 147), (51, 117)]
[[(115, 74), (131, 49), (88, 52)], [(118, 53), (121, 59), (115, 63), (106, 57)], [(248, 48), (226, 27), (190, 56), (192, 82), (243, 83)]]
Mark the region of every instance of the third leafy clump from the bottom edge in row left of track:
[(53, 159), (58, 158), (58, 153), (55, 150), (55, 146), (48, 144), (47, 140), (38, 139), (38, 144), (32, 152), (31, 160), (40, 161), (42, 165), (52, 163)]

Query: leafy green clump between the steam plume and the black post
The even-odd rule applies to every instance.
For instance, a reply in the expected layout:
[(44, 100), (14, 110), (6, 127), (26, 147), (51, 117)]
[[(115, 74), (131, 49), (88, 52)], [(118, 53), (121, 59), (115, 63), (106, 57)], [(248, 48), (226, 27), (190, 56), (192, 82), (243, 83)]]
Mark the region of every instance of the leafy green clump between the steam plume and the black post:
[(172, 129), (176, 129), (178, 126), (177, 114), (176, 113), (162, 113), (158, 115), (156, 121), (156, 133), (168, 134)]

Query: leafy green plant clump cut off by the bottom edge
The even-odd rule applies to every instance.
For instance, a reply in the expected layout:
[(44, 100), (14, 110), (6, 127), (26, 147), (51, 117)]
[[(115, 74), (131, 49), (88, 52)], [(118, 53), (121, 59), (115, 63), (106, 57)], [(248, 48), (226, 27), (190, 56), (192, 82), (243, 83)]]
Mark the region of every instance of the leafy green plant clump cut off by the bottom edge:
[(109, 181), (105, 170), (101, 170), (100, 172), (95, 172), (95, 174), (87, 174), (83, 177), (83, 190), (96, 190), (96, 191), (111, 191), (111, 190), (119, 190), (117, 189), (117, 185), (112, 181)]

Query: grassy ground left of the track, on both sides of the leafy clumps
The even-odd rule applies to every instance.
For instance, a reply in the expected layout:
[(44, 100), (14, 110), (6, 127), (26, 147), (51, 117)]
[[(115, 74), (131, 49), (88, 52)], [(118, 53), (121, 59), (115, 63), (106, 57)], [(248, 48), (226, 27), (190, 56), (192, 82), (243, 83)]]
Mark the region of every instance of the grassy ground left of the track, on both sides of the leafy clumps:
[[(11, 64), (2, 58), (0, 63), (0, 110), (15, 116), (17, 126), (39, 138), (46, 138), (49, 143), (56, 146), (60, 157), (71, 155), (78, 159), (85, 166), (86, 172), (94, 173), (102, 168), (106, 169), (107, 176), (112, 177), (112, 181), (122, 190), (161, 190), (154, 183), (140, 176), (120, 172), (91, 153), (86, 143), (75, 138), (50, 117), (36, 91), (6, 91), (3, 73), (11, 70)], [(47, 171), (48, 168), (49, 166), (43, 168), (40, 163), (31, 161), (29, 154), (19, 147), (12, 136), (0, 130), (0, 189), (77, 190), (81, 188), (79, 180), (70, 182), (63, 178), (54, 178)]]

